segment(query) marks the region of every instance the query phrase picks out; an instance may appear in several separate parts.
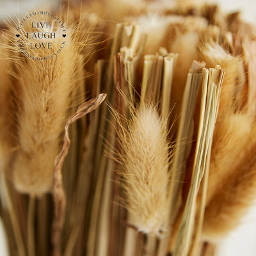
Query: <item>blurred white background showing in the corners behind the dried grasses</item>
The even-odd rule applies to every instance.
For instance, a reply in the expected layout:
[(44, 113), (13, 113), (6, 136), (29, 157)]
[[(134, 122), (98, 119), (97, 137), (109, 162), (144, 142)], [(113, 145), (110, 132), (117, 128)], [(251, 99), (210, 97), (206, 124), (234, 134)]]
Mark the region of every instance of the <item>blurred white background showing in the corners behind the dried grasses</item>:
[[(129, 0), (127, 0), (129, 1)], [(172, 0), (170, 0), (172, 1)], [(178, 0), (179, 1), (179, 0)], [(195, 0), (196, 1), (196, 0)], [(256, 24), (256, 1), (255, 0), (218, 0), (206, 1), (207, 3), (218, 3), (225, 12), (240, 10), (244, 20)], [(26, 13), (29, 10), (49, 10), (56, 6), (58, 0), (0, 0), (0, 19), (4, 20), (10, 14), (17, 15)], [(256, 255), (256, 202), (252, 209), (245, 216), (241, 226), (237, 228), (230, 236), (222, 241), (216, 256), (255, 256)], [(3, 223), (0, 220), (0, 255), (9, 256), (6, 246), (6, 237), (4, 236)], [(10, 255), (12, 256), (12, 255)]]

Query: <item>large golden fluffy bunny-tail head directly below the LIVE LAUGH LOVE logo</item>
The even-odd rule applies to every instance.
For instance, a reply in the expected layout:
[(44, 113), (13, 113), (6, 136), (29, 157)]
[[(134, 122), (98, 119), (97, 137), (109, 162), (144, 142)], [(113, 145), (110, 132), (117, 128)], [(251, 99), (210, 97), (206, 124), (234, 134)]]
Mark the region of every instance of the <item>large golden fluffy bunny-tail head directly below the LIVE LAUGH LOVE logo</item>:
[(53, 60), (29, 60), (20, 67), (19, 150), (13, 163), (13, 183), (20, 192), (42, 195), (51, 190), (74, 86), (72, 48), (67, 42)]

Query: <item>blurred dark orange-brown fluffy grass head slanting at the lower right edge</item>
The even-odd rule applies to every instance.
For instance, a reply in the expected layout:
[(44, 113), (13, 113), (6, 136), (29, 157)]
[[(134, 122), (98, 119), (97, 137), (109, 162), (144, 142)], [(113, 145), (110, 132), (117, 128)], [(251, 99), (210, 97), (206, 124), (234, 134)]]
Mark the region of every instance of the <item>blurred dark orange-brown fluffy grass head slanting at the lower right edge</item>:
[[(244, 121), (244, 120), (243, 120)], [(248, 136), (248, 134), (246, 134)], [(256, 143), (255, 129), (246, 139), (238, 159), (234, 159), (228, 169), (232, 175), (221, 180), (221, 188), (216, 190), (205, 208), (202, 237), (208, 241), (220, 241), (241, 224), (243, 216), (255, 200), (256, 193)], [(228, 148), (230, 154), (233, 148)], [(228, 166), (227, 166), (228, 167)], [(209, 180), (211, 184), (211, 180)]]

